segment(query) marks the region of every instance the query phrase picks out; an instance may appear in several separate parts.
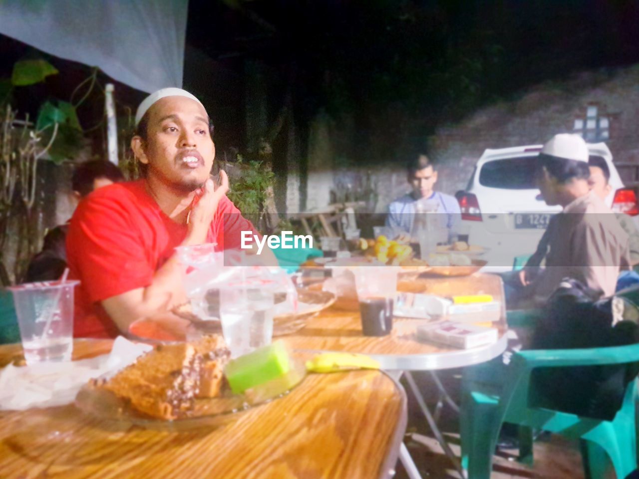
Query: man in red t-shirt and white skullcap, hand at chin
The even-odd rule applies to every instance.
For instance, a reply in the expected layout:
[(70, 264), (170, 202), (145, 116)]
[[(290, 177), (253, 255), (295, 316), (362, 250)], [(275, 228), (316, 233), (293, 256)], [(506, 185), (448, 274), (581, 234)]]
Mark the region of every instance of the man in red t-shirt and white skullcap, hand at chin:
[[(217, 242), (240, 247), (254, 227), (210, 179), (215, 145), (208, 114), (187, 91), (165, 88), (144, 100), (131, 141), (144, 178), (105, 186), (81, 202), (66, 241), (75, 290), (74, 335), (115, 337), (143, 317), (186, 300), (174, 248)], [(254, 244), (254, 243), (253, 243)], [(270, 250), (265, 264), (277, 264)]]

